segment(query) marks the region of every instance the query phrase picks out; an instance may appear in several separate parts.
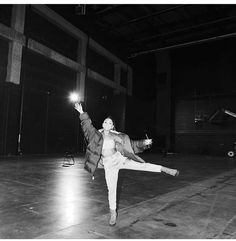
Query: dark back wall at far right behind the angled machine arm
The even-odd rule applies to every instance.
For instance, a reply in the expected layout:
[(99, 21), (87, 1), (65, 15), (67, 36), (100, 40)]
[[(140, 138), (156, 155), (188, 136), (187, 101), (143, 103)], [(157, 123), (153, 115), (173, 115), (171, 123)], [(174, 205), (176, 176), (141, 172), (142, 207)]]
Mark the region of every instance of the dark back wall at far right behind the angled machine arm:
[(235, 39), (172, 51), (175, 104), (175, 149), (179, 152), (225, 155), (236, 140)]

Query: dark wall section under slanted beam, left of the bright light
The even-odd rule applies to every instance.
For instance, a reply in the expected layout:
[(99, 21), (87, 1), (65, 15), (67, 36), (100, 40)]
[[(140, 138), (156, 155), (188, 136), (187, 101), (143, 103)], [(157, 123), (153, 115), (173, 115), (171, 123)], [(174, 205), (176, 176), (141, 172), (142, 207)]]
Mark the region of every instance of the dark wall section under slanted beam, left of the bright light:
[(29, 50), (23, 56), (23, 154), (75, 150), (78, 120), (68, 96), (76, 73)]

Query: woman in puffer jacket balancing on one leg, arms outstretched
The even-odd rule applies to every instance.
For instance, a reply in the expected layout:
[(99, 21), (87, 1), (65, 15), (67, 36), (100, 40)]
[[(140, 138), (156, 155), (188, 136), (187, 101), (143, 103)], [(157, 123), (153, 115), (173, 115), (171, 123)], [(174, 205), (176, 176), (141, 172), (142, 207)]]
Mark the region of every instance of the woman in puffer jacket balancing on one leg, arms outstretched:
[(75, 103), (75, 109), (80, 113), (81, 126), (88, 141), (84, 168), (94, 179), (97, 168), (104, 168), (108, 189), (111, 226), (116, 224), (117, 217), (117, 181), (120, 169), (165, 172), (178, 176), (179, 171), (161, 165), (146, 163), (136, 153), (143, 152), (152, 144), (152, 139), (131, 140), (128, 135), (115, 131), (113, 120), (108, 117), (103, 121), (102, 129), (97, 130), (88, 115), (83, 111), (81, 103)]

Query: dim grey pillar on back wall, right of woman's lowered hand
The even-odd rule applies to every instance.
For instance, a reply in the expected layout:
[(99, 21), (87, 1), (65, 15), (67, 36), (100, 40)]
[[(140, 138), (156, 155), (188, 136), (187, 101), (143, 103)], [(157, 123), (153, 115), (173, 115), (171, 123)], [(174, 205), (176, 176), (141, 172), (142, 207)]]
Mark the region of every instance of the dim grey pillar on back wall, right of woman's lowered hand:
[(156, 53), (157, 62), (157, 135), (165, 139), (165, 149), (172, 150), (171, 143), (171, 62), (168, 51)]

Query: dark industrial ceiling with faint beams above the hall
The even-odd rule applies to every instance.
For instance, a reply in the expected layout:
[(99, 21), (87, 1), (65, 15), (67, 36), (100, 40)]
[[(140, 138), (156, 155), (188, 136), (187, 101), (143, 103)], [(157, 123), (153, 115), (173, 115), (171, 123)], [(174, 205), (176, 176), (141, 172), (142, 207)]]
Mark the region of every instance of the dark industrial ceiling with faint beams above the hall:
[(236, 36), (234, 4), (48, 5), (125, 58)]

